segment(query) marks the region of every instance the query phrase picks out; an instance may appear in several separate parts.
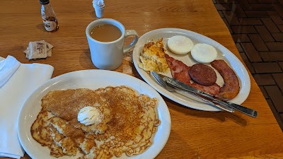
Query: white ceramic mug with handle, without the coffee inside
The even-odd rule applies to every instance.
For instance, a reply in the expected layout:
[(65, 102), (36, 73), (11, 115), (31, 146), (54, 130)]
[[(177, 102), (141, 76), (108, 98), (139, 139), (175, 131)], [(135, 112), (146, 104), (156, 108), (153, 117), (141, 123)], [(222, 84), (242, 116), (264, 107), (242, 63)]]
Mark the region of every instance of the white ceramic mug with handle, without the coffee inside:
[[(121, 37), (112, 42), (100, 42), (91, 37), (91, 31), (98, 25), (110, 24), (115, 25), (121, 30)], [(134, 40), (124, 47), (125, 38), (134, 35)], [(88, 39), (89, 49), (91, 50), (91, 60), (98, 69), (113, 70), (121, 64), (124, 53), (136, 45), (139, 36), (135, 30), (125, 30), (124, 25), (117, 20), (110, 18), (101, 18), (94, 20), (86, 27), (86, 38)]]

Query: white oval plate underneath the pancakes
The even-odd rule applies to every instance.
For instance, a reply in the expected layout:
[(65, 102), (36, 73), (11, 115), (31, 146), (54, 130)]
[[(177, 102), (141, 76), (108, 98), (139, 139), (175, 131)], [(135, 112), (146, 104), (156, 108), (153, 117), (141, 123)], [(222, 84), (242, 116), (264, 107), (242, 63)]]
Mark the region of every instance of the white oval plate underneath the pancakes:
[[(128, 86), (136, 90), (139, 94), (148, 95), (150, 98), (157, 98), (156, 116), (160, 119), (161, 124), (157, 127), (156, 133), (151, 136), (153, 144), (146, 148), (144, 153), (132, 155), (131, 157), (128, 157), (124, 153), (119, 159), (155, 158), (165, 146), (171, 131), (171, 117), (166, 102), (164, 102), (161, 95), (154, 88), (144, 81), (124, 73), (105, 70), (83, 70), (66, 73), (50, 79), (30, 94), (27, 100), (25, 100), (18, 116), (18, 138), (25, 152), (31, 158), (54, 158), (50, 155), (50, 150), (47, 147), (40, 146), (40, 143), (37, 143), (30, 134), (30, 126), (35, 121), (41, 109), (41, 99), (50, 90), (75, 88), (96, 90), (97, 88), (105, 88), (107, 86)], [(77, 153), (73, 157), (64, 155), (60, 158), (79, 158), (79, 156), (81, 154)]]

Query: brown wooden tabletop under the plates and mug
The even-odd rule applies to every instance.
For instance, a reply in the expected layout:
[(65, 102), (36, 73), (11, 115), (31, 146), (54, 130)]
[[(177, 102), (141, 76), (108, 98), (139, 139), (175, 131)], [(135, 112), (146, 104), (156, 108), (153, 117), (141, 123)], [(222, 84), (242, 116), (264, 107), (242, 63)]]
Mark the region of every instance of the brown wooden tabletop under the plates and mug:
[[(86, 26), (96, 17), (91, 0), (51, 0), (51, 4), (59, 21), (56, 33), (45, 31), (39, 1), (1, 1), (0, 56), (12, 55), (22, 63), (50, 64), (54, 66), (53, 77), (96, 69), (85, 35)], [(158, 28), (192, 30), (216, 40), (241, 59), (211, 0), (105, 0), (105, 5), (105, 18), (119, 20), (140, 36)], [(23, 50), (28, 42), (36, 40), (54, 45), (52, 57), (25, 59)], [(115, 71), (141, 78), (129, 56)], [(250, 95), (243, 105), (258, 110), (256, 119), (239, 112), (192, 110), (163, 97), (171, 113), (172, 128), (157, 158), (283, 158), (282, 131), (251, 75), (250, 81)], [(25, 154), (24, 158), (29, 156)]]

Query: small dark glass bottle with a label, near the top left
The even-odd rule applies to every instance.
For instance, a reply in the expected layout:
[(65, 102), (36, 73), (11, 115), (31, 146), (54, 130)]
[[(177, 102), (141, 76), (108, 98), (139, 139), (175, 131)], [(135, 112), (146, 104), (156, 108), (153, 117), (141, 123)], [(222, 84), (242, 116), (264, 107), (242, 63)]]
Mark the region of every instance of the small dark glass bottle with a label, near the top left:
[(41, 18), (45, 25), (45, 30), (48, 32), (55, 32), (59, 29), (56, 13), (50, 5), (49, 0), (40, 0), (41, 6)]

